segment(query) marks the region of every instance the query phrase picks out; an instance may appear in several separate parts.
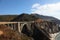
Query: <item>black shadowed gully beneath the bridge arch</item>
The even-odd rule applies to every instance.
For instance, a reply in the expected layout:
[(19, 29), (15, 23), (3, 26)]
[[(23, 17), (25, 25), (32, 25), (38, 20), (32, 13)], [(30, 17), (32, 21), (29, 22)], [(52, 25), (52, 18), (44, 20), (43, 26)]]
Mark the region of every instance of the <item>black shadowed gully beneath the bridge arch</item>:
[[(31, 34), (33, 31), (33, 34)], [(24, 25), (22, 29), (22, 33), (26, 34), (29, 37), (32, 37), (34, 40), (50, 40), (45, 34), (41, 32), (41, 30), (38, 29), (35, 25), (32, 28), (32, 31), (30, 31), (27, 28), (27, 25)]]

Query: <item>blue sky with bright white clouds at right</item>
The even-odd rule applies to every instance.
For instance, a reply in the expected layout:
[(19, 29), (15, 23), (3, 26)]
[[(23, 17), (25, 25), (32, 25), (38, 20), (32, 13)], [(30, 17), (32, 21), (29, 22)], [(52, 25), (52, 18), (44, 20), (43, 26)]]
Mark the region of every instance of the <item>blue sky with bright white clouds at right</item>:
[(37, 13), (60, 19), (60, 0), (0, 0), (0, 15), (21, 13)]

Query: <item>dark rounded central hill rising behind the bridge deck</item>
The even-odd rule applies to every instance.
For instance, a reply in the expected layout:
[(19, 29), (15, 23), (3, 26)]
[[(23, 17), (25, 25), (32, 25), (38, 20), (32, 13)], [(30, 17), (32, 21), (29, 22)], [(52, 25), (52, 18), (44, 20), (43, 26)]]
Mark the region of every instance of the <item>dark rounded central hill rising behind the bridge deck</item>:
[(29, 14), (20, 14), (16, 18), (14, 18), (11, 21), (34, 21), (38, 19), (36, 16), (29, 15)]

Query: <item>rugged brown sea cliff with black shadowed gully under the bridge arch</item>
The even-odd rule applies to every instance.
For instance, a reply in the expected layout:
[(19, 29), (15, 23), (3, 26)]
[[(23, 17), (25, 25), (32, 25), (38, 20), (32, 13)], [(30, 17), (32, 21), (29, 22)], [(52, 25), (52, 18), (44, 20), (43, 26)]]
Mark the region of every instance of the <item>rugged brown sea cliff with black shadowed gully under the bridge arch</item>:
[(34, 40), (50, 40), (49, 34), (59, 31), (55, 22), (44, 21), (42, 19), (38, 19), (32, 23), (31, 27), (29, 27), (31, 30), (28, 27), (24, 25), (22, 33), (32, 37)]

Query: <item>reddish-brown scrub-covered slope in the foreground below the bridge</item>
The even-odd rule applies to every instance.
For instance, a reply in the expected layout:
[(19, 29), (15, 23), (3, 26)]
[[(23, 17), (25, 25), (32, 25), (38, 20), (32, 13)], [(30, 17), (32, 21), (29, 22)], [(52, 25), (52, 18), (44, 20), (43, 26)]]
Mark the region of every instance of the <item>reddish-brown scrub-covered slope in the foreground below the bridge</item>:
[(25, 34), (19, 34), (5, 25), (0, 25), (0, 40), (32, 40)]

